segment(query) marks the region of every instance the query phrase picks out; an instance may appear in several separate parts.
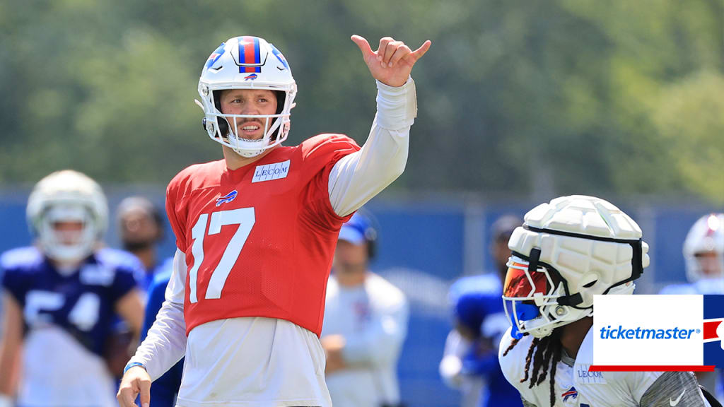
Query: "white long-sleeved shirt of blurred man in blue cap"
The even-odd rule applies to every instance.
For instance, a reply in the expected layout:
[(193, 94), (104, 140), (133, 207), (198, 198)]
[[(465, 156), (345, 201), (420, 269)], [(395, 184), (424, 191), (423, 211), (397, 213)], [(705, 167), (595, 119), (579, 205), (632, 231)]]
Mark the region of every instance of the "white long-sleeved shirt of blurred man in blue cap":
[(349, 366), (327, 375), (334, 407), (400, 402), (397, 358), (407, 335), (408, 303), (402, 291), (368, 272), (363, 285), (345, 288), (332, 275), (327, 284), (324, 335), (342, 335)]

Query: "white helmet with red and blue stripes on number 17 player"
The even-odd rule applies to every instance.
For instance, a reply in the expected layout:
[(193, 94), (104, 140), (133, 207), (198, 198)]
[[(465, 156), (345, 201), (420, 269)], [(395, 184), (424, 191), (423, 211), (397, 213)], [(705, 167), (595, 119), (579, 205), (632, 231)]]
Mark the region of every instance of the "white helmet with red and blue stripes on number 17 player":
[[(277, 93), (276, 114), (222, 114), (219, 97), (224, 89), (268, 89)], [(263, 38), (242, 36), (222, 43), (206, 60), (198, 80), (198, 94), (205, 117), (203, 127), (212, 140), (233, 148), (240, 156), (258, 156), (287, 139), (290, 111), (297, 84), (287, 59)], [(264, 138), (249, 140), (237, 134), (239, 119), (264, 123)], [(229, 123), (227, 119), (233, 119)]]

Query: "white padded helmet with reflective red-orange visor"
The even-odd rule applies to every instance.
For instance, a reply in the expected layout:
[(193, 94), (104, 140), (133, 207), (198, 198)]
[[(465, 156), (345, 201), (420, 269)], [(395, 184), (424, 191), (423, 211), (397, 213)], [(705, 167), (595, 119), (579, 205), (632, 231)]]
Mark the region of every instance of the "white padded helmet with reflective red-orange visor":
[(592, 196), (564, 196), (531, 209), (513, 231), (503, 286), (513, 337), (546, 337), (593, 315), (596, 294), (631, 294), (649, 246), (631, 217)]

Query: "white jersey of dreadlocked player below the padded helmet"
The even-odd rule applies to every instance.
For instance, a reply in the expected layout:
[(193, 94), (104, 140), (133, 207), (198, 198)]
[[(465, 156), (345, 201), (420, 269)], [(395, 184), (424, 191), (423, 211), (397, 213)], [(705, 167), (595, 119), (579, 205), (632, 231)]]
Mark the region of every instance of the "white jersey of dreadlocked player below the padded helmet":
[[(526, 368), (526, 356), (533, 337), (526, 335), (508, 355), (512, 338), (510, 330), (500, 341), (500, 366), (508, 382), (521, 393), (527, 406), (550, 406), (550, 375), (537, 386), (521, 383)], [(589, 372), (593, 364), (593, 330), (578, 349), (575, 359), (565, 355), (556, 365), (555, 407), (654, 407), (709, 406), (691, 372)], [(532, 374), (531, 363), (529, 373)]]

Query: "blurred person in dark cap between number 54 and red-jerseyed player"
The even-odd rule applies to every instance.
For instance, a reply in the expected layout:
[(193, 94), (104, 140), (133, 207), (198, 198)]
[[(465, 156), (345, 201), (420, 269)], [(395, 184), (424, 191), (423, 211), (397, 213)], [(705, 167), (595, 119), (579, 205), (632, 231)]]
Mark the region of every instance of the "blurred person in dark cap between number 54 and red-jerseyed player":
[(164, 238), (164, 216), (148, 198), (129, 196), (118, 204), (117, 218), (123, 249), (143, 264), (144, 273), (138, 277), (138, 283), (145, 292), (154, 274), (172, 267), (173, 258), (161, 256), (158, 251)]

